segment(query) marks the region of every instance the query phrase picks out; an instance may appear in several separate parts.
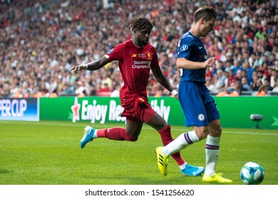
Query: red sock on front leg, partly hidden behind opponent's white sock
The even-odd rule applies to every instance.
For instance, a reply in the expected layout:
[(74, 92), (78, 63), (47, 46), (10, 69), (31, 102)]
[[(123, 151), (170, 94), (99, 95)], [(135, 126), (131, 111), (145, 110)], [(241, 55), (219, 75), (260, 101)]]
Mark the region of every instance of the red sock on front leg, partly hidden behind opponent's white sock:
[[(158, 131), (158, 133), (161, 136), (161, 140), (162, 140), (164, 146), (166, 146), (167, 144), (169, 144), (171, 141), (174, 140), (171, 135), (170, 125), (168, 125), (164, 129), (161, 129), (160, 131)], [(182, 164), (185, 163), (185, 160), (180, 155), (180, 151), (175, 152), (175, 154), (171, 154), (171, 156), (174, 158), (174, 160), (176, 161), (178, 166), (181, 166)]]

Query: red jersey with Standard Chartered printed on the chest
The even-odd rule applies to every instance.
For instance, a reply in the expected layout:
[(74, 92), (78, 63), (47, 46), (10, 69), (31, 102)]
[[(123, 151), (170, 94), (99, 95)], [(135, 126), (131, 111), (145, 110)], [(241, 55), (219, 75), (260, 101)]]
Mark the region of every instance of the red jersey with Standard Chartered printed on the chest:
[(124, 85), (120, 90), (120, 99), (125, 97), (147, 97), (146, 88), (150, 78), (150, 69), (160, 67), (158, 55), (153, 45), (148, 43), (142, 48), (132, 40), (115, 46), (105, 55), (110, 62), (118, 60)]

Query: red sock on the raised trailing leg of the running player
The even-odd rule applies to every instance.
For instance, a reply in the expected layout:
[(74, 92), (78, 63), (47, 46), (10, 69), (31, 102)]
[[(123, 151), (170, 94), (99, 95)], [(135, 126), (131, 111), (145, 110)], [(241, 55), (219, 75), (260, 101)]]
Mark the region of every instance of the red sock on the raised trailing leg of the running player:
[(113, 140), (126, 140), (126, 141), (136, 141), (138, 138), (133, 138), (130, 136), (124, 128), (113, 127), (111, 129), (99, 129), (97, 131), (98, 137), (107, 137)]

